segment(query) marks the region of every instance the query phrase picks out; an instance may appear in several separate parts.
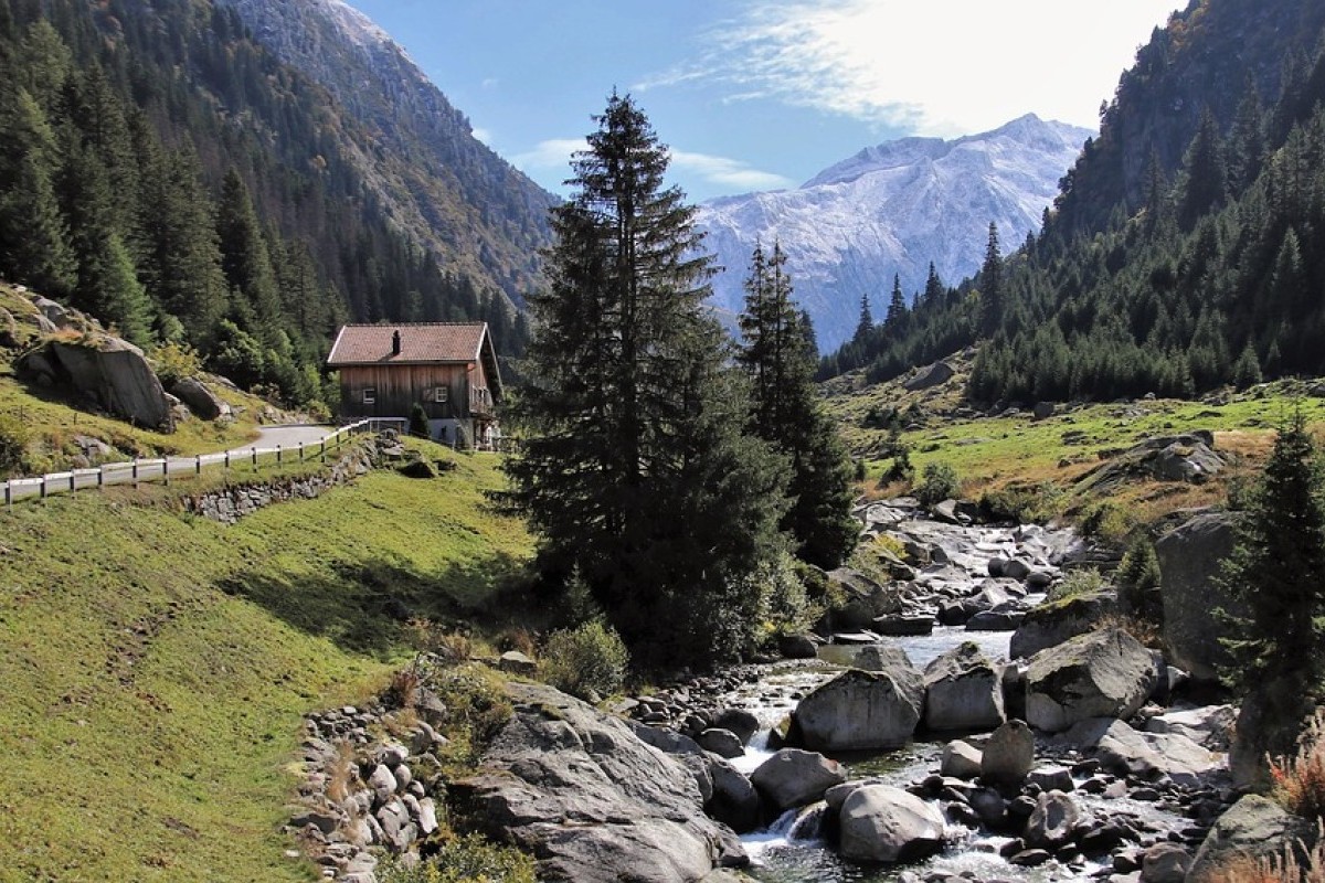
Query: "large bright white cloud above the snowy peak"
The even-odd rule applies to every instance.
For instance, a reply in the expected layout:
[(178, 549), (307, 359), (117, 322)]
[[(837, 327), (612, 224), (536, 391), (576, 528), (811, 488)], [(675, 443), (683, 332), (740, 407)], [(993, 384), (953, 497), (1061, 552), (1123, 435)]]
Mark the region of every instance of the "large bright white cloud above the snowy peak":
[(718, 83), (933, 135), (1027, 111), (1094, 126), (1101, 99), (1179, 0), (751, 0), (708, 53), (636, 90)]

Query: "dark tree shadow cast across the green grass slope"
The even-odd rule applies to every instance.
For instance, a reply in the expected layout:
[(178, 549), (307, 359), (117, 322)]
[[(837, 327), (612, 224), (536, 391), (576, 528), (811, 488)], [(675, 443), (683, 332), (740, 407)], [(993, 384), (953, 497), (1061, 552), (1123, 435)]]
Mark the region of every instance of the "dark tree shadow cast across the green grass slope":
[(521, 602), (511, 598), (525, 594), (522, 572), (522, 561), (507, 553), (432, 573), (374, 560), (298, 577), (253, 569), (223, 581), (220, 589), (342, 650), (386, 658), (411, 620), (454, 630), (518, 618)]

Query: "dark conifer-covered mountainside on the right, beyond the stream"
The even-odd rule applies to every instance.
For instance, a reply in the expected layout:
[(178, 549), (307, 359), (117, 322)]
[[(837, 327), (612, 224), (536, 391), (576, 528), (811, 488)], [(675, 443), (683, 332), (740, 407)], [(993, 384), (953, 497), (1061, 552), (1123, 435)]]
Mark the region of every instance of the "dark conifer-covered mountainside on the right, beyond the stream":
[[(1104, 107), (1037, 240), (825, 360), (882, 380), (984, 339), (983, 402), (1325, 372), (1325, 7), (1198, 0)], [(1143, 171), (1140, 173), (1137, 168)]]

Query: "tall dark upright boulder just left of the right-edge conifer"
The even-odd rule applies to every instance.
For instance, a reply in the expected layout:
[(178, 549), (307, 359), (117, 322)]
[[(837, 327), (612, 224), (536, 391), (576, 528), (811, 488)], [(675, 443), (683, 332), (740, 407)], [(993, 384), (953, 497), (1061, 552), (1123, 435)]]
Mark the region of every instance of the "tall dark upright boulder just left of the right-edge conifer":
[(1227, 626), (1216, 610), (1242, 616), (1247, 609), (1215, 577), (1234, 548), (1236, 530), (1235, 514), (1204, 512), (1155, 541), (1165, 646), (1170, 662), (1194, 680), (1215, 683), (1219, 671), (1232, 665), (1219, 642)]

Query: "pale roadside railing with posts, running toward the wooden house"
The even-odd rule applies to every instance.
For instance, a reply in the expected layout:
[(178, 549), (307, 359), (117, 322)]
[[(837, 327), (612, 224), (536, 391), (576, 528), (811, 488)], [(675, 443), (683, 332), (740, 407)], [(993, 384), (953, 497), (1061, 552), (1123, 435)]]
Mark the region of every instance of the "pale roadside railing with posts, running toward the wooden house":
[(4, 504), (12, 507), (20, 499), (46, 499), (52, 494), (70, 494), (77, 490), (91, 487), (106, 487), (109, 485), (134, 485), (139, 482), (164, 482), (170, 485), (171, 478), (184, 478), (187, 475), (200, 475), (204, 466), (224, 466), (235, 469), (252, 466), (257, 470), (258, 459), (274, 455), (277, 463), (282, 463), (285, 457), (297, 457), (303, 462), (307, 457), (326, 458), (327, 449), (339, 450), (347, 437), (360, 433), (375, 433), (383, 429), (396, 429), (404, 432), (409, 421), (405, 417), (368, 417), (335, 432), (327, 433), (317, 442), (299, 442), (298, 445), (274, 447), (248, 447), (223, 451), (220, 454), (197, 454), (195, 457), (159, 457), (142, 459), (135, 457), (131, 461), (102, 463), (90, 469), (72, 469), (66, 473), (48, 473), (34, 478), (11, 478), (3, 486)]

